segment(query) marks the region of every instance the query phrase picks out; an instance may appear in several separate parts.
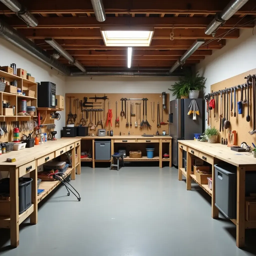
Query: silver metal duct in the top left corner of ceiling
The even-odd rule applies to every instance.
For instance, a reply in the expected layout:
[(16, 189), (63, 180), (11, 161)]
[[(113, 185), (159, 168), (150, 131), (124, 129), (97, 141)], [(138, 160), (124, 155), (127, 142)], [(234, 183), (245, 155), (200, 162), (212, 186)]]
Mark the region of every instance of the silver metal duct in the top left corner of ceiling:
[(16, 0), (0, 0), (3, 4), (5, 4), (9, 9), (17, 14), (18, 17), (23, 19), (29, 26), (36, 27), (38, 25), (37, 19), (28, 12), (26, 7), (22, 7), (22, 5)]

